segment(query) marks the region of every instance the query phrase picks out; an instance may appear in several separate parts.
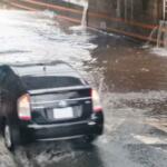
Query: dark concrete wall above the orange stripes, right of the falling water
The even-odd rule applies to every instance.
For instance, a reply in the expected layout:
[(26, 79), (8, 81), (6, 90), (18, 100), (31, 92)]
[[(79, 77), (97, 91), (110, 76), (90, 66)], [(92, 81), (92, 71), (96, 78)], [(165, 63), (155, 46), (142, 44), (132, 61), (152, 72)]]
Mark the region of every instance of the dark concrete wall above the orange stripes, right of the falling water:
[(110, 17), (157, 23), (161, 17), (161, 3), (163, 0), (89, 0), (89, 9), (108, 12)]

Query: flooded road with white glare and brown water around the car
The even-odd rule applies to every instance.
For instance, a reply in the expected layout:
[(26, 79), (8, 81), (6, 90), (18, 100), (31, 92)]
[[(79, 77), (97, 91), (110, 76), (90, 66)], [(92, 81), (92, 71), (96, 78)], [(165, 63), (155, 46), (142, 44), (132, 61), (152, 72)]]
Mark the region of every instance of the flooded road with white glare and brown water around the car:
[[(0, 10), (0, 62), (65, 60), (100, 95), (105, 134), (92, 146), (31, 144), (0, 167), (166, 167), (167, 53), (131, 39), (58, 20), (51, 11)], [(157, 55), (161, 52), (161, 55)]]

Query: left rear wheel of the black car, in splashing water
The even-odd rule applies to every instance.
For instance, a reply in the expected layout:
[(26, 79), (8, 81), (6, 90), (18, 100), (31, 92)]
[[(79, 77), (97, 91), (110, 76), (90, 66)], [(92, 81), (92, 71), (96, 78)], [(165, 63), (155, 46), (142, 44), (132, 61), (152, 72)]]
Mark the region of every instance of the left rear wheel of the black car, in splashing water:
[(10, 151), (13, 151), (16, 146), (20, 144), (19, 131), (11, 127), (9, 122), (4, 124), (3, 137), (4, 145)]

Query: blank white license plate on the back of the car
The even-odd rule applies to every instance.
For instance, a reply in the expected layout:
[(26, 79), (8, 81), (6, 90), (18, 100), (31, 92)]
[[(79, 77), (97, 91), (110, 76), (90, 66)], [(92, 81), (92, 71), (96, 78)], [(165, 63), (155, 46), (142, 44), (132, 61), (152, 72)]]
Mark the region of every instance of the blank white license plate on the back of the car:
[(55, 119), (68, 119), (73, 118), (73, 111), (71, 107), (67, 108), (55, 108), (53, 109), (53, 118)]

